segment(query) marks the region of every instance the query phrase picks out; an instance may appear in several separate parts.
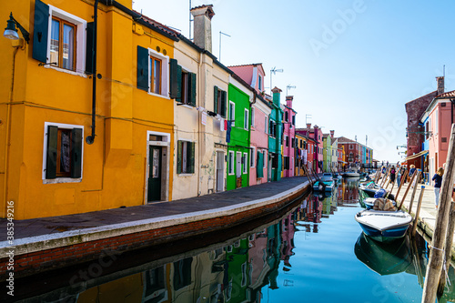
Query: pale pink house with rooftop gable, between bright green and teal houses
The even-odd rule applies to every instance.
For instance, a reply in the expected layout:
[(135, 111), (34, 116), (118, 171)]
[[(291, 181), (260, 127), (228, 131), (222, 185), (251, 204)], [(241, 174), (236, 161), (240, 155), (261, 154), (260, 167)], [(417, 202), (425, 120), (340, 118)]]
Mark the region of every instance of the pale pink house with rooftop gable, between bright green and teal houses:
[(256, 90), (251, 106), (249, 186), (268, 182), (268, 117), (272, 112), (270, 103), (262, 97), (264, 91), (264, 68), (262, 64), (229, 66), (242, 80)]

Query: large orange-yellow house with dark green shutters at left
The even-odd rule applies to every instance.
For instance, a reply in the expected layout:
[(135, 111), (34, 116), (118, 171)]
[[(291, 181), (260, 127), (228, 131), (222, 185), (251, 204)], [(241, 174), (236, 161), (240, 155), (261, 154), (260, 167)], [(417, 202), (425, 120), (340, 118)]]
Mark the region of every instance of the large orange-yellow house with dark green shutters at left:
[(14, 218), (26, 219), (172, 199), (168, 63), (178, 39), (131, 8), (131, 0), (0, 8), (30, 33), (0, 39), (1, 217), (9, 201)]

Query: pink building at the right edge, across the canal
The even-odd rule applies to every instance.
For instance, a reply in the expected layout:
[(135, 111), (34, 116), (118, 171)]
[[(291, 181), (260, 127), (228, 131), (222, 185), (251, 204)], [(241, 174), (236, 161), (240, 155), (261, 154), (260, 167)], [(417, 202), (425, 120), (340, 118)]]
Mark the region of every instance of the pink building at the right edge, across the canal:
[(450, 99), (455, 97), (455, 91), (442, 93), (436, 96), (427, 107), (420, 121), (425, 126), (425, 150), (429, 152), (429, 175), (443, 167), (447, 160), (450, 142), (450, 128), (455, 122), (453, 104)]

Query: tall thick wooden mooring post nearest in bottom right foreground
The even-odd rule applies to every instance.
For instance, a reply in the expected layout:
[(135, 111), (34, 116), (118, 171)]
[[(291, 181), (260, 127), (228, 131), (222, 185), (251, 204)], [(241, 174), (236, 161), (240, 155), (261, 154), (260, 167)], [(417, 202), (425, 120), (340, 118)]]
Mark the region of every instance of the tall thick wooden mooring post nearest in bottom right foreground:
[[(425, 275), (422, 302), (434, 303), (440, 285), (440, 275), (442, 267), (445, 266), (446, 237), (449, 226), (449, 216), (451, 207), (451, 196), (453, 188), (453, 178), (455, 169), (455, 124), (452, 124), (450, 131), (450, 144), (447, 153), (446, 171), (442, 177), (440, 187), (440, 206), (436, 216), (435, 230), (431, 241), (430, 259)], [(453, 234), (450, 235), (453, 237)], [(450, 260), (448, 260), (450, 262)], [(444, 273), (443, 273), (444, 274)], [(445, 274), (444, 274), (445, 275)]]

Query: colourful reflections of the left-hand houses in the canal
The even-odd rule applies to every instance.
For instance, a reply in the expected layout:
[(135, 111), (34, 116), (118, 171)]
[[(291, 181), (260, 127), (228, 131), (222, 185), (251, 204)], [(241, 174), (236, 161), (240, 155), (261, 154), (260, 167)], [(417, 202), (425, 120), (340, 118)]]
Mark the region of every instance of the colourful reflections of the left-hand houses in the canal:
[[(320, 217), (322, 204), (314, 202)], [(280, 263), (284, 270), (291, 268), (297, 218), (298, 213), (290, 213), (277, 224), (227, 247), (89, 288), (78, 294), (76, 301), (258, 303), (262, 288), (278, 288)]]

